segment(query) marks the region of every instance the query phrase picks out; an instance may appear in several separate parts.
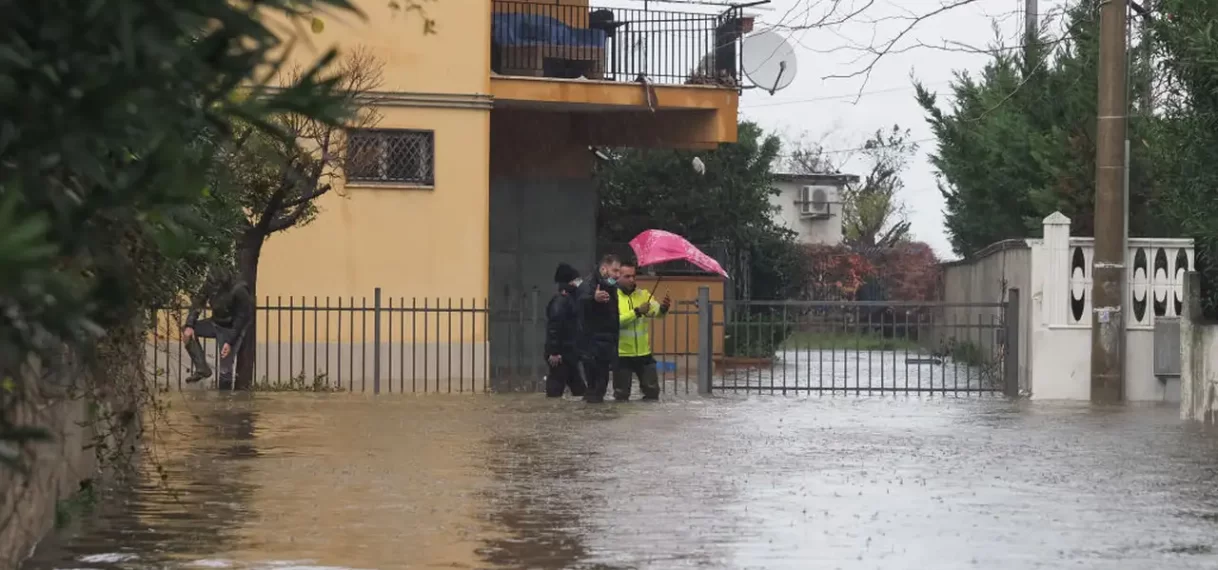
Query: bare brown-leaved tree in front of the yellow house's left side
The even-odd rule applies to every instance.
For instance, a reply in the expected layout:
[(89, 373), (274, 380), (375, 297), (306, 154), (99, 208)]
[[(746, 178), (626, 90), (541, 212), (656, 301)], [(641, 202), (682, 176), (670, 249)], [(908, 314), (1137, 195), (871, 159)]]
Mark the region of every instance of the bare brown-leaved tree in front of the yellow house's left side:
[[(235, 235), (236, 266), (240, 278), (257, 296), (258, 262), (262, 246), (272, 235), (308, 224), (318, 213), (317, 200), (335, 191), (339, 177), (352, 153), (347, 149), (348, 129), (375, 125), (375, 94), (382, 80), (384, 63), (367, 49), (356, 49), (334, 63), (331, 79), (348, 108), (346, 124), (335, 125), (298, 114), (276, 118), (286, 138), (275, 138), (252, 127), (235, 133), (235, 141), (219, 152), (234, 205), (244, 212)], [(295, 84), (301, 71), (290, 72), (285, 85)], [(256, 297), (257, 298), (257, 297)], [(240, 350), (235, 387), (252, 386), (256, 331), (246, 332)]]

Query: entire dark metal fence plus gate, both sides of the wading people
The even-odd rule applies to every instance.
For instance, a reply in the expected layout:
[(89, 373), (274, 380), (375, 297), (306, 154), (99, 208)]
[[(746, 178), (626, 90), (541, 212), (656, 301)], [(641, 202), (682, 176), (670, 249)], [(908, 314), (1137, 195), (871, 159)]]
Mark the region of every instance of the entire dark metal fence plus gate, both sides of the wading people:
[[(665, 393), (1018, 393), (1018, 291), (1005, 303), (677, 298), (653, 322)], [(540, 294), (436, 300), (287, 297), (257, 311), (255, 389), (535, 391), (544, 380)], [(191, 371), (184, 308), (152, 315), (147, 362), (166, 389)], [(218, 359), (213, 341), (205, 341)], [(251, 356), (242, 354), (240, 358)], [(218, 363), (213, 363), (218, 369)], [(208, 380), (214, 386), (216, 378)]]

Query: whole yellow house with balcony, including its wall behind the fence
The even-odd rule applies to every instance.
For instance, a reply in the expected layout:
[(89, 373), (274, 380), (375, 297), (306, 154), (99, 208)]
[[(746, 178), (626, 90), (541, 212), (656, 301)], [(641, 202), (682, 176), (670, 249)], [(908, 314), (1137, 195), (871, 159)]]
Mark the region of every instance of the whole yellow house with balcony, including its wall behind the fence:
[[(295, 46), (302, 66), (334, 46), (375, 57), (379, 119), (348, 139), (373, 160), (348, 163), (317, 218), (262, 251), (256, 381), (464, 391), (504, 367), (536, 367), (538, 307), (497, 307), (535, 290), (543, 302), (559, 262), (592, 269), (594, 149), (736, 140), (738, 47), (752, 27), (739, 9), (409, 1), (356, 0), (363, 18), (317, 15), (324, 26)], [(362, 308), (378, 287), (396, 307), (380, 317)], [(169, 354), (178, 328), (164, 326), (166, 354), (150, 358), (169, 384), (186, 367)]]

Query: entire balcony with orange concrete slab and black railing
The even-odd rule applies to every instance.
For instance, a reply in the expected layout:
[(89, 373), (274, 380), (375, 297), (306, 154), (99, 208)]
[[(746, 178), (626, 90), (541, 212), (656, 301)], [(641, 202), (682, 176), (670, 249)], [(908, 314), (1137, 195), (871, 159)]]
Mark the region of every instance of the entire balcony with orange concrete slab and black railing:
[(590, 145), (736, 140), (741, 38), (753, 27), (739, 7), (575, 2), (492, 0), (495, 108), (566, 113)]

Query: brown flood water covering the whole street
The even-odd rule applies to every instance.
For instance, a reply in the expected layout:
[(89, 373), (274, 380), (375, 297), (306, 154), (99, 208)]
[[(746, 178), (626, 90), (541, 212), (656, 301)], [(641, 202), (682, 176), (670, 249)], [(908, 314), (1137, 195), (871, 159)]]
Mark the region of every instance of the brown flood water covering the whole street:
[(27, 569), (1218, 568), (1218, 434), (1174, 407), (175, 398)]

